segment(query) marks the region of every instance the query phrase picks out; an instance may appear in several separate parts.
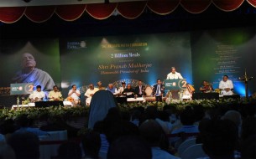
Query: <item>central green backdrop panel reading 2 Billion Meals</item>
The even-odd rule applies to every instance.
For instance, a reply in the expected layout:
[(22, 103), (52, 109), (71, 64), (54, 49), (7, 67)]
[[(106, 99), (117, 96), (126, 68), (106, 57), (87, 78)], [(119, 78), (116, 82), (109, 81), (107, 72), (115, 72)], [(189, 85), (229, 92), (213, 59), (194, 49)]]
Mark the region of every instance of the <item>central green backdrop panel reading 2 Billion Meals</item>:
[(154, 85), (172, 66), (191, 83), (190, 39), (190, 33), (60, 39), (62, 88), (67, 94), (72, 84), (128, 79)]

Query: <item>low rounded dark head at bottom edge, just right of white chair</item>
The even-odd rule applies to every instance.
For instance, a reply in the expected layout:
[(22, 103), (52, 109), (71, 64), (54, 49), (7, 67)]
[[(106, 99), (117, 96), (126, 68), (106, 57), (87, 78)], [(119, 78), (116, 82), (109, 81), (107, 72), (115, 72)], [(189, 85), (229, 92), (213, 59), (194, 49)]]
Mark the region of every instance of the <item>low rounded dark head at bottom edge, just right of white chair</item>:
[(81, 159), (81, 147), (74, 141), (67, 141), (59, 146), (58, 158)]

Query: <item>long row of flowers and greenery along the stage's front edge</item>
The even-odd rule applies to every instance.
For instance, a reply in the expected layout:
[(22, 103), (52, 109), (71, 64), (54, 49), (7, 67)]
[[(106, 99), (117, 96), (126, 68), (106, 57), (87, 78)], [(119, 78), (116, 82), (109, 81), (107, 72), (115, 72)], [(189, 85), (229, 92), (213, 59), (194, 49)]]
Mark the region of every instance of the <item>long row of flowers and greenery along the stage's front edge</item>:
[[(243, 105), (248, 103), (256, 103), (256, 100), (170, 100), (168, 102), (157, 102), (157, 101), (146, 101), (146, 102), (130, 102), (118, 104), (121, 111), (129, 111), (133, 108), (143, 107), (144, 109), (148, 106), (156, 106), (158, 110), (163, 110), (165, 105), (169, 105), (174, 108), (176, 112), (185, 109), (185, 106), (196, 106), (202, 105), (206, 110), (215, 108), (220, 105)], [(69, 121), (76, 120), (79, 117), (88, 117), (89, 107), (85, 106), (50, 106), (44, 108), (17, 108), (16, 110), (9, 110), (7, 108), (0, 109), (0, 121), (8, 119), (17, 120), (20, 115), (27, 115), (29, 119), (35, 121), (39, 120), (61, 120)]]

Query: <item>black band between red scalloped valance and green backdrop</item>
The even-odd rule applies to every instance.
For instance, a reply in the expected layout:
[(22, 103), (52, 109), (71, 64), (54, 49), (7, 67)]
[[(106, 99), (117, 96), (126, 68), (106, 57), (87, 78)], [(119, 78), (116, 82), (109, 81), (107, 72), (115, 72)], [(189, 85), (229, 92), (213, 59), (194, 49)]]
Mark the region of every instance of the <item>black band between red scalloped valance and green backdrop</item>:
[[(33, 23), (23, 16), (17, 23), (1, 23), (0, 38), (64, 38), (81, 36), (167, 33), (215, 28), (256, 26), (256, 8), (248, 3), (235, 11), (223, 12), (213, 4), (203, 13), (192, 14), (180, 6), (175, 12), (162, 16), (145, 9), (133, 20), (112, 16), (105, 20), (83, 14), (73, 22), (65, 22), (56, 14), (44, 23)], [(255, 27), (256, 29), (256, 27)]]

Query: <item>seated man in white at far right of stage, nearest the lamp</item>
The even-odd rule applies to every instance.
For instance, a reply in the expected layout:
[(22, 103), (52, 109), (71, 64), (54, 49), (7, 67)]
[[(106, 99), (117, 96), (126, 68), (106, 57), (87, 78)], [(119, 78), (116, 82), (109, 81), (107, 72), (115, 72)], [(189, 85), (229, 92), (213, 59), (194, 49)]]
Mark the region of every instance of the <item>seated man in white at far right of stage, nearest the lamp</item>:
[(219, 89), (221, 90), (221, 95), (233, 95), (232, 89), (232, 80), (228, 79), (227, 75), (223, 75), (223, 79), (219, 84)]

